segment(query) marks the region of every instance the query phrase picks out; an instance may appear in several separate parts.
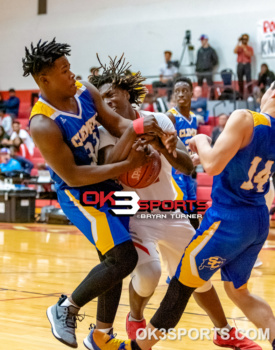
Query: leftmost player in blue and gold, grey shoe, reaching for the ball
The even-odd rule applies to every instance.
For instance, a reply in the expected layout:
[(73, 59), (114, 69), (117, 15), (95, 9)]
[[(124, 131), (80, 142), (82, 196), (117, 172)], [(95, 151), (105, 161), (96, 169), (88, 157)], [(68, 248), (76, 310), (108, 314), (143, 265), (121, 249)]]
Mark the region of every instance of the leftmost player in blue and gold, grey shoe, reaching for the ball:
[[(79, 230), (95, 245), (101, 263), (75, 289), (71, 297), (61, 296), (47, 310), (54, 336), (62, 343), (77, 347), (76, 320), (80, 307), (98, 297), (98, 320), (104, 315), (100, 303), (103, 293), (112, 290), (110, 319), (115, 317), (122, 280), (135, 268), (137, 252), (128, 232), (127, 220), (113, 217), (104, 206), (96, 209), (80, 203), (84, 191), (117, 190), (108, 180), (143, 164), (148, 155), (134, 147), (121, 162), (98, 166), (99, 131), (96, 121), (120, 136), (127, 131), (129, 140), (137, 133), (164, 133), (154, 117), (135, 124), (109, 108), (98, 90), (89, 83), (75, 81), (66, 56), (68, 44), (51, 42), (26, 48), (23, 58), (24, 76), (32, 75), (41, 97), (32, 109), (30, 130), (55, 182), (59, 203)], [(170, 151), (172, 145), (166, 144)], [(127, 252), (127, 257), (125, 255)]]

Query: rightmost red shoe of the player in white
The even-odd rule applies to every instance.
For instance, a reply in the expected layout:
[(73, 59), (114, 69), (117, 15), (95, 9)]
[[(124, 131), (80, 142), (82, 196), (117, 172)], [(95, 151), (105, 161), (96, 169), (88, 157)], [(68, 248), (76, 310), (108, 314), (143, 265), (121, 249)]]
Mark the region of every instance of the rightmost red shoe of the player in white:
[(231, 328), (230, 332), (226, 334), (226, 338), (215, 332), (213, 343), (224, 348), (231, 348), (234, 350), (262, 350), (260, 345), (245, 337), (238, 332), (235, 327)]

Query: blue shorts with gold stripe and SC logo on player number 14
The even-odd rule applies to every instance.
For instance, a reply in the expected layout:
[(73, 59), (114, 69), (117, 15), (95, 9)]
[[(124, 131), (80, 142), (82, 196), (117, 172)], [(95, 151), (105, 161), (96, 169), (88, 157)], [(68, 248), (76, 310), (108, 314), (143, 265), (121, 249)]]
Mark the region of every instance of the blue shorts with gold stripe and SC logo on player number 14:
[(184, 285), (197, 288), (221, 269), (222, 280), (240, 288), (250, 277), (268, 231), (266, 206), (212, 206), (186, 247), (176, 277)]

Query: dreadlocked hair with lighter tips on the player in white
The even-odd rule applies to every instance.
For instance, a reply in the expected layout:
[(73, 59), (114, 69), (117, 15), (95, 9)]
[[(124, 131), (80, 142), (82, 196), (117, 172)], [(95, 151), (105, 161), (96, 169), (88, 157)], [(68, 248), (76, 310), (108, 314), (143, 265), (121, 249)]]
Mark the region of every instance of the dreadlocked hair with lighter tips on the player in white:
[(142, 97), (148, 92), (145, 85), (142, 84), (146, 79), (141, 76), (140, 72), (129, 74), (129, 68), (131, 66), (128, 62), (125, 63), (124, 54), (118, 60), (117, 56), (114, 59), (109, 56), (109, 67), (101, 63), (98, 54), (96, 56), (100, 64), (98, 69), (102, 69), (103, 73), (98, 76), (90, 75), (88, 78), (89, 82), (98, 89), (104, 84), (112, 84), (115, 88), (126, 90), (130, 95), (129, 102), (140, 105), (142, 103)]

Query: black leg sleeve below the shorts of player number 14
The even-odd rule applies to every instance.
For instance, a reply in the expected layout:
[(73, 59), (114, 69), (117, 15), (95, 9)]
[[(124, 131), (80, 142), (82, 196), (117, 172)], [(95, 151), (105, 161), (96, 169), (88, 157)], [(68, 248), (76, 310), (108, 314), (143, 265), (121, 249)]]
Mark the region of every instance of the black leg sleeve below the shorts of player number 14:
[(194, 290), (195, 288), (187, 287), (173, 277), (151, 324), (157, 329), (165, 329), (166, 332), (175, 328)]

